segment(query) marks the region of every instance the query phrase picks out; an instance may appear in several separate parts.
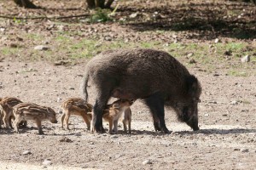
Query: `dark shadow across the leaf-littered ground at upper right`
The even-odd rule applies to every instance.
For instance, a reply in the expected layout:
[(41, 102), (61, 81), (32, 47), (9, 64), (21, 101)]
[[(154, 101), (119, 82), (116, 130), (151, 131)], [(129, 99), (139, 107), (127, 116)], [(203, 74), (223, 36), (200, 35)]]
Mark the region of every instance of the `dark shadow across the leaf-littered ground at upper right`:
[[(134, 8), (120, 9), (124, 13)], [(140, 9), (137, 9), (140, 10)], [(155, 14), (159, 11), (160, 14)], [(256, 6), (250, 3), (200, 3), (186, 6), (144, 8), (155, 20), (128, 24), (137, 31), (192, 31), (188, 38), (212, 39), (218, 36), (239, 39), (256, 38)]]

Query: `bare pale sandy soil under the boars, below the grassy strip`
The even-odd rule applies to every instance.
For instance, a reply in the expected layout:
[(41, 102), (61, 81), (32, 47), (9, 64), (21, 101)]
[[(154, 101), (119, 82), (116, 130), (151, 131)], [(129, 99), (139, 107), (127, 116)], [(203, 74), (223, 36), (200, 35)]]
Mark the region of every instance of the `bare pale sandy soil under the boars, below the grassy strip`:
[[(58, 111), (63, 99), (81, 96), (79, 86), (85, 64), (86, 61), (65, 67), (3, 61), (1, 96), (15, 96)], [(203, 87), (198, 132), (177, 122), (175, 114), (167, 110), (166, 125), (172, 133), (154, 133), (148, 109), (137, 101), (131, 107), (131, 136), (123, 133), (121, 126), (119, 134), (90, 133), (79, 117), (71, 118), (70, 131), (61, 129), (60, 124), (44, 122), (44, 136), (38, 135), (32, 122), (20, 134), (2, 129), (0, 164), (11, 169), (20, 164), (9, 162), (41, 168), (44, 160), (49, 159), (49, 167), (255, 169), (256, 78), (227, 77), (221, 72), (216, 77), (195, 69), (190, 71), (199, 77)], [(94, 97), (92, 91), (90, 100)], [(108, 127), (106, 123), (104, 127)], [(61, 142), (64, 137), (71, 142)], [(23, 155), (26, 150), (31, 154)]]

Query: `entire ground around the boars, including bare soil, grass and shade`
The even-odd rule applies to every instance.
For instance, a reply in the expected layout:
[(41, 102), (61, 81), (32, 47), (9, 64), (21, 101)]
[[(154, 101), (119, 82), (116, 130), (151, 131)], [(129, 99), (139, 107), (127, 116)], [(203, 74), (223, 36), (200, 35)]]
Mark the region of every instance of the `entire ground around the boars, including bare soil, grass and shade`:
[[(75, 116), (70, 119), (71, 130), (61, 129), (60, 122), (44, 122), (43, 136), (32, 122), (19, 134), (2, 128), (0, 169), (256, 169), (255, 6), (218, 0), (115, 1), (114, 5), (120, 4), (115, 21), (91, 24), (84, 22), (86, 17), (45, 19), (89, 15), (79, 0), (33, 2), (44, 8), (17, 8), (13, 1), (0, 1), (0, 97), (16, 97), (58, 111), (63, 100), (83, 97), (80, 84), (88, 60), (70, 58), (89, 47), (73, 44), (84, 39), (100, 42), (90, 49), (96, 54), (101, 43), (147, 46), (159, 42), (158, 47), (164, 48), (177, 42), (177, 49), (168, 52), (180, 54), (175, 57), (203, 88), (201, 130), (193, 132), (166, 109), (166, 126), (172, 133), (155, 133), (148, 108), (136, 101), (131, 106), (131, 135), (123, 133), (121, 123), (118, 134), (90, 133)], [(43, 19), (14, 20), (13, 16)], [(233, 51), (216, 51), (217, 37), (218, 47), (233, 44)], [(190, 42), (199, 46), (178, 48), (178, 44), (189, 47)], [(42, 44), (50, 49), (34, 49)], [(196, 51), (207, 57), (189, 64), (187, 55)], [(252, 61), (241, 64), (240, 53), (250, 54)], [(72, 64), (53, 64), (66, 60)], [(229, 69), (238, 74), (232, 76)], [(92, 104), (95, 95), (90, 90)], [(60, 121), (61, 115), (57, 116)]]

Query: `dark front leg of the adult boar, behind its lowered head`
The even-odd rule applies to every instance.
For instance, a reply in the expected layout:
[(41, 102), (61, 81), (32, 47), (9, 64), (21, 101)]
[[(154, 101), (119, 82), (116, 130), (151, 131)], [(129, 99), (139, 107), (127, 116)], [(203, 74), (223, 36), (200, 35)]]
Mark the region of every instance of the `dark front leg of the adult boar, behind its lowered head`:
[(160, 93), (152, 94), (146, 99), (146, 105), (148, 105), (153, 116), (155, 131), (169, 133), (165, 122), (164, 98), (162, 95)]

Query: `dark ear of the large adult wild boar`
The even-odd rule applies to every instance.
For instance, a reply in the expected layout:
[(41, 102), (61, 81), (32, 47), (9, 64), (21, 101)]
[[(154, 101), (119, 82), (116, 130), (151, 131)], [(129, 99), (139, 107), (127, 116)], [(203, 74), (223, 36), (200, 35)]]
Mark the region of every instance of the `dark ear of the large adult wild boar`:
[(192, 96), (201, 94), (201, 85), (194, 75), (185, 77), (185, 84), (187, 94)]

